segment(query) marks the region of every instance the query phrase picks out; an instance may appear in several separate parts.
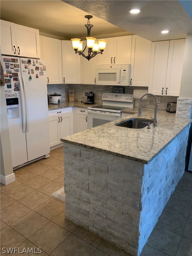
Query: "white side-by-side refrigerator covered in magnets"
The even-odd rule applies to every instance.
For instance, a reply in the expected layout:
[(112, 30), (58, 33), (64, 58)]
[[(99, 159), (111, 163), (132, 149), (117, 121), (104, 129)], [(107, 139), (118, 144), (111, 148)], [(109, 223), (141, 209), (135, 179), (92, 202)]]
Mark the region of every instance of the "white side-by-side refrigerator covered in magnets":
[(2, 56), (13, 169), (49, 156), (44, 60)]

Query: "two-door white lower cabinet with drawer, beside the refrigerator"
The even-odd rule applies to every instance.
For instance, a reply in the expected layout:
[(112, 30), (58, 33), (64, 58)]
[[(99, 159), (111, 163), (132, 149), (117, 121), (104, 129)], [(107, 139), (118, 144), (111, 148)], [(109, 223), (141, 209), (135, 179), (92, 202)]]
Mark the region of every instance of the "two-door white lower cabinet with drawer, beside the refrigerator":
[(50, 147), (61, 143), (61, 138), (73, 134), (72, 107), (49, 111)]

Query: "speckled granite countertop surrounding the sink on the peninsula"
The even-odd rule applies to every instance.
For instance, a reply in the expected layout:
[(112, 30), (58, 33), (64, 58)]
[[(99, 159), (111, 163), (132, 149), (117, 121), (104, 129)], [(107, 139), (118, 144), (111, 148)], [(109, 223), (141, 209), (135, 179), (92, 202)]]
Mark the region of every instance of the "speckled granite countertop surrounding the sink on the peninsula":
[(133, 117), (146, 120), (154, 117), (154, 110), (142, 109), (142, 117), (137, 116), (138, 108), (125, 111), (130, 115), (67, 136), (61, 141), (148, 164), (192, 122), (192, 119), (176, 118), (175, 113), (158, 110), (157, 127), (151, 125), (151, 129), (131, 129), (116, 126), (115, 123)]

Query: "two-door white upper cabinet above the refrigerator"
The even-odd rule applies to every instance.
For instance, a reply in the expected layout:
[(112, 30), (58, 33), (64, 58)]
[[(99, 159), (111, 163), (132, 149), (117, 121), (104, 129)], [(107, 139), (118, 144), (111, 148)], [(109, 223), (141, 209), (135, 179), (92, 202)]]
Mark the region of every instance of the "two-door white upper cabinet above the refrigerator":
[(1, 20), (1, 54), (40, 58), (39, 30)]

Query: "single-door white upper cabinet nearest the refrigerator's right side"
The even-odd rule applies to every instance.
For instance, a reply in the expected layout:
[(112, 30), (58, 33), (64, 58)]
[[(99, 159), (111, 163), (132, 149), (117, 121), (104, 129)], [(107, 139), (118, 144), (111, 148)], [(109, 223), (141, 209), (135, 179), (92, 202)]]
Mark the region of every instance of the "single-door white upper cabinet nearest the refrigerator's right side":
[(61, 40), (40, 36), (41, 59), (46, 61), (48, 84), (63, 84)]

